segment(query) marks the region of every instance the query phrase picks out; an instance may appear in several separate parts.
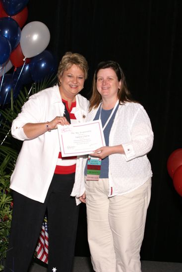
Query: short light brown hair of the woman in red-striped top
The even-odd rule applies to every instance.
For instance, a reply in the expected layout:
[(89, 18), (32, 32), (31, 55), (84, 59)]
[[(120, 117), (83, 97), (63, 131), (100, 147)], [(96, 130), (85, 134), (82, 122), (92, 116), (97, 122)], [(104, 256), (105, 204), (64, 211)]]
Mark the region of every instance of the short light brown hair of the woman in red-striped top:
[(88, 63), (84, 56), (78, 53), (66, 52), (59, 64), (58, 67), (58, 84), (60, 81), (60, 77), (62, 76), (64, 71), (67, 71), (73, 64), (78, 66), (84, 72), (84, 79), (87, 79), (88, 76)]

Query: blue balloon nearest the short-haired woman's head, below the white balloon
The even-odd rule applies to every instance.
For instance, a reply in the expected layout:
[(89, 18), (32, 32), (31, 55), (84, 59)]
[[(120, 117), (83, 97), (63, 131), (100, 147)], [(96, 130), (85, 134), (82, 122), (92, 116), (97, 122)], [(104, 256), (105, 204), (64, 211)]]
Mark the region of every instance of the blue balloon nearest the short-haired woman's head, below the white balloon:
[(34, 82), (38, 82), (53, 75), (57, 70), (55, 56), (49, 51), (44, 50), (39, 55), (30, 60), (30, 73)]

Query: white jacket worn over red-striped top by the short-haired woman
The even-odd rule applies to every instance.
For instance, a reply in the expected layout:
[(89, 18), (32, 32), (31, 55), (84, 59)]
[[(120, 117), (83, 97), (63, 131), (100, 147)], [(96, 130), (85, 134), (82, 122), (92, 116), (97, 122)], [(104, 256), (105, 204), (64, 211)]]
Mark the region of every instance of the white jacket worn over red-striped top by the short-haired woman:
[[(78, 122), (85, 122), (89, 101), (80, 94), (76, 95)], [(10, 188), (37, 201), (44, 203), (52, 181), (60, 151), (58, 130), (46, 132), (34, 139), (28, 139), (23, 131), (26, 123), (42, 123), (63, 116), (64, 104), (61, 101), (59, 87), (54, 86), (31, 95), (23, 105), (21, 113), (12, 122), (11, 134), (23, 140), (23, 145), (11, 175)], [(82, 175), (83, 156), (76, 159), (76, 180)]]

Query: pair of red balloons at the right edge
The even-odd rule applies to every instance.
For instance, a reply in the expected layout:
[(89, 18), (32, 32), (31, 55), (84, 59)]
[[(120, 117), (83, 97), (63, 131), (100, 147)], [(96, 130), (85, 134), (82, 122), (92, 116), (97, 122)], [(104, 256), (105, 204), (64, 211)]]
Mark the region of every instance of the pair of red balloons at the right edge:
[(167, 169), (176, 191), (182, 196), (182, 148), (171, 153), (167, 161)]

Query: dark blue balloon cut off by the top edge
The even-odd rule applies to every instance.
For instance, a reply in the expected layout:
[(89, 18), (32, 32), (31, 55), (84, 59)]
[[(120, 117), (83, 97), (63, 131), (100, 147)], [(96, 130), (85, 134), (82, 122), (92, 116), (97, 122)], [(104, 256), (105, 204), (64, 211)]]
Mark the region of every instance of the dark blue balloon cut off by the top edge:
[(3, 9), (9, 16), (19, 13), (28, 3), (28, 0), (1, 0)]

